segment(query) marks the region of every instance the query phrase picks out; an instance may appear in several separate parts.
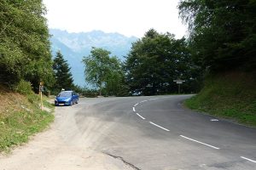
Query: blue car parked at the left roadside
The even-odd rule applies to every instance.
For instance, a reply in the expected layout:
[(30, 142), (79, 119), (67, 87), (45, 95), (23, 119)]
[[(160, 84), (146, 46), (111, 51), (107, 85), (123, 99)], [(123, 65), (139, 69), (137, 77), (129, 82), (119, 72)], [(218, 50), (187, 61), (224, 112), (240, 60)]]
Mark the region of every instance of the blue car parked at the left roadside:
[(73, 105), (79, 103), (79, 94), (74, 91), (62, 91), (55, 98), (55, 105)]

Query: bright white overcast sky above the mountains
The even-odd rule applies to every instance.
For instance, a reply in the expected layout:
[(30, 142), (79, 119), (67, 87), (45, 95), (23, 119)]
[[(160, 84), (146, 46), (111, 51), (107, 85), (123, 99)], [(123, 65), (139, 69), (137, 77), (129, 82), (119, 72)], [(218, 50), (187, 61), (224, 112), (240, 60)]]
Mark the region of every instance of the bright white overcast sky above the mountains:
[(70, 32), (102, 30), (143, 37), (150, 28), (183, 37), (178, 0), (44, 0), (50, 28)]

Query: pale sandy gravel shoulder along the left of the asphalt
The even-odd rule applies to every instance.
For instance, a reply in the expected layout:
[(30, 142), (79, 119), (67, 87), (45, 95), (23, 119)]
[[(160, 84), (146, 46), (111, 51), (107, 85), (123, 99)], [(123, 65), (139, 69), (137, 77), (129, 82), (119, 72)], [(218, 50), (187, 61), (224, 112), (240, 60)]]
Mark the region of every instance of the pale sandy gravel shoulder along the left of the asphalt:
[[(0, 155), (0, 170), (133, 169), (119, 159), (94, 150), (94, 140), (100, 134), (79, 132), (75, 113), (101, 100), (104, 99), (89, 99), (85, 103), (81, 99), (79, 105), (57, 107), (55, 122), (49, 129), (33, 136), (28, 144), (17, 147), (10, 155)], [(87, 129), (90, 129), (101, 120), (91, 118), (88, 122)]]

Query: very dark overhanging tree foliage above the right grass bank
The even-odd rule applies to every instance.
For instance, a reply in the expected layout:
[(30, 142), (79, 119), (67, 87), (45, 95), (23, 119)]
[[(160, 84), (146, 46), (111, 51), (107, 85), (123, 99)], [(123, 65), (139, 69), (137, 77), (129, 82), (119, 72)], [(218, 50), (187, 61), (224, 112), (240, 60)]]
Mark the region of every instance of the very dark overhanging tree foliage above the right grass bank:
[(178, 8), (198, 65), (212, 72), (256, 68), (255, 0), (183, 0)]

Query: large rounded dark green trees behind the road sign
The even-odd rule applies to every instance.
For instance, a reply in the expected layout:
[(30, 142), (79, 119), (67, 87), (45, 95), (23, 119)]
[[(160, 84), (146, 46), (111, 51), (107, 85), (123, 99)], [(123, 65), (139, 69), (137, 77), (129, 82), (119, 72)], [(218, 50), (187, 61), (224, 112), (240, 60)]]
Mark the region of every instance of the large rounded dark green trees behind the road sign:
[(184, 38), (176, 40), (153, 29), (132, 44), (125, 72), (131, 93), (146, 95), (177, 93), (177, 79), (186, 81), (183, 92), (195, 92), (200, 75)]

